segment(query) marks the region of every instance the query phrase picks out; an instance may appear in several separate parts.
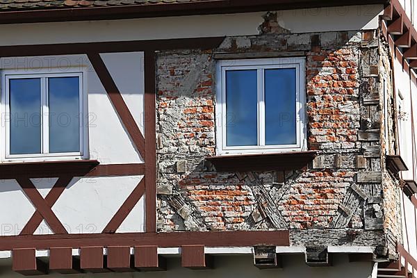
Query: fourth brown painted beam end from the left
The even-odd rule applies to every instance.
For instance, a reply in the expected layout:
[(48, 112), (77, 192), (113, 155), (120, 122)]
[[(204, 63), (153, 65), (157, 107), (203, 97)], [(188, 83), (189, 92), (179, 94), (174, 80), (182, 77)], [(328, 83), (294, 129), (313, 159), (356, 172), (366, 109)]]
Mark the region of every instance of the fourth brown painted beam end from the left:
[(133, 256), (130, 246), (108, 246), (107, 268), (115, 272), (132, 272)]

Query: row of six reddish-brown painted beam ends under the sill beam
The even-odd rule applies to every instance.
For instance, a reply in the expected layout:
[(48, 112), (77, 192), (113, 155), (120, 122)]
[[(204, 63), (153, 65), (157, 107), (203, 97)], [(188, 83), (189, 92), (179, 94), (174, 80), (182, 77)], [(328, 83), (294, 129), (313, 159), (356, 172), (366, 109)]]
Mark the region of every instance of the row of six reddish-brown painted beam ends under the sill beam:
[[(158, 255), (157, 246), (136, 246), (134, 255), (129, 246), (81, 247), (79, 256), (73, 256), (71, 247), (54, 247), (49, 250), (49, 264), (35, 255), (34, 248), (13, 250), (12, 269), (22, 275), (45, 275), (49, 271), (61, 274), (79, 272), (134, 272), (163, 271), (166, 259)], [(204, 245), (183, 245), (181, 265), (183, 268), (211, 268), (210, 256), (204, 254)]]

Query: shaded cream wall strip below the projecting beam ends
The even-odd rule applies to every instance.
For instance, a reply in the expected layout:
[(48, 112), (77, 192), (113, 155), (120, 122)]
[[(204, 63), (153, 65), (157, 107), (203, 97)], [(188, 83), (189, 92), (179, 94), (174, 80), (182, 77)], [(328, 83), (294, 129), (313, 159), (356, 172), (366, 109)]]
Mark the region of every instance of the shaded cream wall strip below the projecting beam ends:
[[(181, 259), (170, 258), (167, 261), (166, 272), (133, 272), (133, 273), (108, 273), (101, 275), (80, 274), (68, 277), (101, 277), (101, 278), (373, 278), (373, 263), (357, 262), (349, 263), (347, 255), (335, 255), (334, 265), (330, 267), (311, 268), (304, 263), (304, 256), (284, 256), (283, 269), (259, 270), (253, 264), (251, 255), (245, 256), (215, 256), (215, 268), (213, 270), (189, 270), (181, 268)], [(0, 277), (22, 277), (10, 270), (10, 259), (0, 260)], [(51, 274), (48, 278), (63, 277), (63, 275)], [(375, 275), (376, 277), (376, 275)]]

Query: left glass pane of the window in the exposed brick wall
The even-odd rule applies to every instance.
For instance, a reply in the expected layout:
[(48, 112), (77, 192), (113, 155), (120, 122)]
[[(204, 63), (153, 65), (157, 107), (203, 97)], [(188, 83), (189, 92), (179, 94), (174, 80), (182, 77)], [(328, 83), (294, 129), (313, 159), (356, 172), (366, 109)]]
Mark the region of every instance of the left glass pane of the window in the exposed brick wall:
[(227, 146), (258, 145), (256, 70), (226, 72)]

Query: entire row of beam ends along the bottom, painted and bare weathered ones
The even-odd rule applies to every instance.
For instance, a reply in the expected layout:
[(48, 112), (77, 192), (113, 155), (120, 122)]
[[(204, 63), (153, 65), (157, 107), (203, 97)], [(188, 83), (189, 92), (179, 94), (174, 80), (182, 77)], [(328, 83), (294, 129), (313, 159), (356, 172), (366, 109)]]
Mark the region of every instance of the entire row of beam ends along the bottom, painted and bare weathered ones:
[[(131, 254), (129, 246), (104, 248), (81, 247), (79, 256), (72, 254), (71, 247), (54, 247), (49, 250), (49, 263), (36, 257), (34, 248), (13, 250), (13, 271), (22, 275), (45, 275), (48, 272), (73, 274), (79, 272), (135, 272), (167, 270), (165, 257), (158, 254), (157, 246), (136, 246)], [(306, 264), (331, 266), (332, 254), (327, 247), (306, 247)], [(282, 268), (282, 254), (275, 246), (254, 247), (254, 266), (259, 269)], [(350, 254), (350, 261), (375, 261), (375, 254)], [(182, 245), (181, 266), (194, 270), (210, 269), (214, 266), (213, 256), (204, 253), (204, 245)]]

